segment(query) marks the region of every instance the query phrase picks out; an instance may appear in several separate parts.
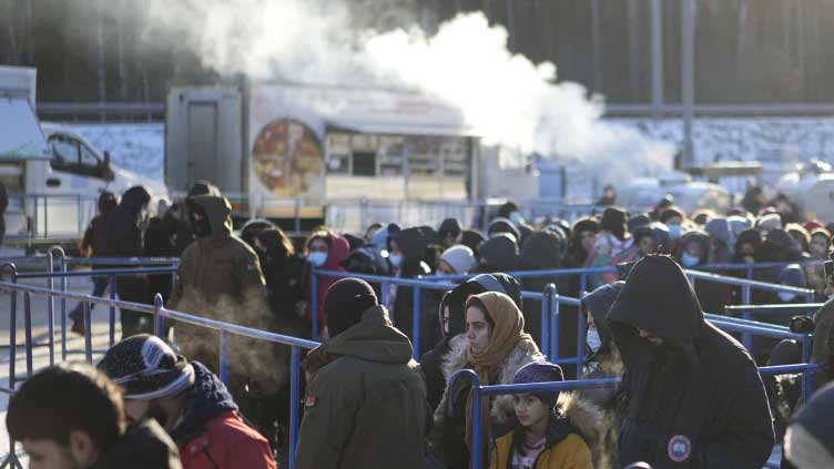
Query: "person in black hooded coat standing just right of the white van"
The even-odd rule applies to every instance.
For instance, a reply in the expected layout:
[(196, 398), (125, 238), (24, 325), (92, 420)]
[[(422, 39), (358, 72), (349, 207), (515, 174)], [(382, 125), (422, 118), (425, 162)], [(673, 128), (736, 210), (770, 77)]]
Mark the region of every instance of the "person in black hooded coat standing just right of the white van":
[[(122, 202), (113, 208), (108, 217), (108, 237), (105, 255), (111, 257), (139, 257), (142, 255), (142, 212), (148, 208), (151, 194), (142, 186), (129, 188), (122, 195)], [(146, 303), (146, 276), (120, 276), (116, 278), (119, 298), (124, 302)], [(142, 332), (152, 332), (152, 320), (142, 327), (142, 313), (122, 309), (122, 337), (130, 337)]]

